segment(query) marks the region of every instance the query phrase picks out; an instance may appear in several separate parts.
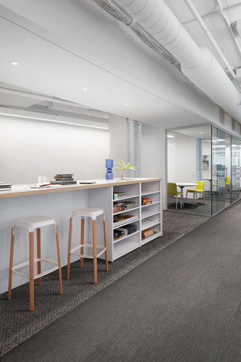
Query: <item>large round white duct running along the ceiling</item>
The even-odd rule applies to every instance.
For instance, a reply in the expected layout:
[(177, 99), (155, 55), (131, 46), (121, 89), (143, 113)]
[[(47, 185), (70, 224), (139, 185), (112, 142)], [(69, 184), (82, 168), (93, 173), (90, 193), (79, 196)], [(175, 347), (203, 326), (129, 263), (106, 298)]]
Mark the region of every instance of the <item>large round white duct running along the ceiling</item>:
[(117, 0), (116, 3), (175, 56), (188, 79), (241, 120), (239, 91), (211, 51), (197, 46), (163, 0)]

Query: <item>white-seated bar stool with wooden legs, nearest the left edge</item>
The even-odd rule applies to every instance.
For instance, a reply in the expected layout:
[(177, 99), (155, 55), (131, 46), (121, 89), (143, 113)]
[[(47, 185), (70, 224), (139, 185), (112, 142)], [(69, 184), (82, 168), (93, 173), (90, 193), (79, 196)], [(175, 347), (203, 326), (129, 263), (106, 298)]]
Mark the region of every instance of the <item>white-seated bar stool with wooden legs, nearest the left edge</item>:
[[(53, 261), (45, 258), (41, 258), (41, 227), (47, 225), (55, 225), (56, 244), (57, 244), (57, 258), (58, 261)], [(29, 230), (29, 261), (25, 261), (21, 264), (13, 266), (13, 249), (14, 249), (14, 232), (15, 227), (24, 227)], [(34, 259), (34, 230), (37, 229), (37, 259)], [(41, 261), (54, 264), (54, 268), (49, 269), (46, 272), (41, 273)], [(37, 274), (34, 275), (34, 262), (37, 262)], [(17, 269), (22, 268), (29, 264), (29, 275), (17, 272)], [(9, 283), (8, 283), (8, 299), (11, 299), (12, 292), (12, 273), (21, 275), (22, 277), (29, 279), (29, 309), (32, 312), (34, 310), (34, 279), (37, 278), (38, 285), (41, 285), (41, 277), (49, 274), (58, 269), (59, 273), (59, 290), (60, 294), (63, 294), (62, 289), (62, 274), (61, 274), (61, 255), (59, 251), (59, 237), (58, 226), (53, 218), (46, 216), (32, 216), (21, 220), (16, 220), (14, 226), (11, 229), (11, 248), (10, 248), (10, 261), (9, 261)]]

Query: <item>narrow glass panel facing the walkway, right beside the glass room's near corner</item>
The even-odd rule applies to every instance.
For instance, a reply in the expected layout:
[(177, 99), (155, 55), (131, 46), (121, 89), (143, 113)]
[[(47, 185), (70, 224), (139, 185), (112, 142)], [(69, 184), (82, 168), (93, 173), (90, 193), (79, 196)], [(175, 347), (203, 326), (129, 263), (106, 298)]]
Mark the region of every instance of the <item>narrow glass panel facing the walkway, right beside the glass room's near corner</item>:
[(212, 215), (225, 207), (225, 132), (212, 126)]

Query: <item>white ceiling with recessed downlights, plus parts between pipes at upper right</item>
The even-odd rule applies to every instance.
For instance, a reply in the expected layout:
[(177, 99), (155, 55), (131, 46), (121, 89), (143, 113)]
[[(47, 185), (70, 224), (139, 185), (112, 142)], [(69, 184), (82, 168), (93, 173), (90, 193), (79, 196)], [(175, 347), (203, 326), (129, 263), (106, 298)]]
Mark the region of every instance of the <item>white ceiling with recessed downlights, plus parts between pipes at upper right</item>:
[[(184, 0), (166, 2), (182, 22), (193, 18)], [(217, 9), (214, 0), (193, 3), (202, 15)], [(5, 6), (0, 9), (2, 82), (163, 128), (212, 119), (213, 103), (202, 92), (92, 1), (0, 4)], [(238, 65), (239, 55), (220, 15), (206, 22), (228, 60)], [(185, 27), (198, 45), (211, 48), (195, 21)], [(12, 61), (19, 65), (12, 66)], [(22, 101), (0, 93), (1, 105), (27, 107), (32, 102)]]

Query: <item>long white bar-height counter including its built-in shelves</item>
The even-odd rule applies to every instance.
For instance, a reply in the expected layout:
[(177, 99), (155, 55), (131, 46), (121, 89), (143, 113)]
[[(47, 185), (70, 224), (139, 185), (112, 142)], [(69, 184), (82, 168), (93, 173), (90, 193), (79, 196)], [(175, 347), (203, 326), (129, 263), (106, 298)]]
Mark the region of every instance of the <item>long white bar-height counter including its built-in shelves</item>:
[[(104, 209), (107, 218), (109, 261), (114, 261), (137, 247), (163, 235), (162, 179), (131, 178), (125, 180), (114, 179), (106, 181), (102, 179), (93, 181), (96, 183), (79, 184), (78, 182), (80, 181), (77, 181), (75, 185), (44, 189), (31, 188), (32, 184), (13, 185), (11, 191), (0, 192), (0, 293), (8, 289), (10, 231), (16, 219), (34, 215), (52, 216), (56, 219), (59, 225), (62, 266), (67, 264), (69, 218), (74, 209), (82, 207), (100, 207)], [(119, 227), (113, 223), (113, 201), (116, 201), (113, 200), (114, 192), (126, 193), (124, 198), (119, 199), (120, 201), (137, 202), (136, 207), (121, 212), (137, 217), (136, 220), (131, 222), (137, 225), (137, 231), (117, 240), (113, 240), (113, 229)], [(152, 204), (142, 206), (142, 196), (151, 198)], [(73, 223), (76, 222), (73, 219)], [(128, 224), (128, 221), (125, 224)], [(145, 230), (147, 227), (153, 228), (154, 234), (146, 239), (142, 239), (142, 230)], [(91, 237), (90, 228), (91, 225), (86, 227), (86, 241), (88, 241), (89, 235)], [(104, 244), (102, 228), (101, 221), (97, 222), (98, 244)], [(79, 223), (74, 225), (73, 230), (72, 245), (75, 246), (80, 240)], [(16, 229), (15, 263), (26, 261), (28, 238), (23, 234), (22, 232), (20, 237), (20, 233), (18, 234)], [(56, 254), (55, 244), (51, 242), (53, 235), (50, 234), (49, 230), (45, 230), (45, 228), (43, 228), (42, 235), (43, 239), (47, 238), (49, 240), (49, 243), (43, 243), (45, 249), (42, 250), (42, 254), (46, 258), (54, 258)], [(72, 261), (74, 260), (72, 259)], [(65, 278), (65, 274), (63, 277)], [(25, 279), (20, 276), (14, 276), (13, 288), (24, 282), (26, 282)]]

